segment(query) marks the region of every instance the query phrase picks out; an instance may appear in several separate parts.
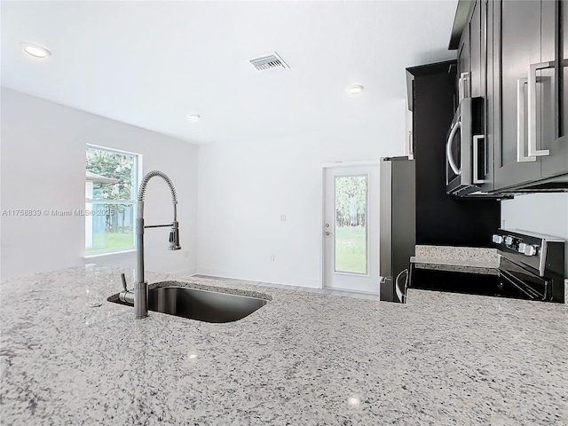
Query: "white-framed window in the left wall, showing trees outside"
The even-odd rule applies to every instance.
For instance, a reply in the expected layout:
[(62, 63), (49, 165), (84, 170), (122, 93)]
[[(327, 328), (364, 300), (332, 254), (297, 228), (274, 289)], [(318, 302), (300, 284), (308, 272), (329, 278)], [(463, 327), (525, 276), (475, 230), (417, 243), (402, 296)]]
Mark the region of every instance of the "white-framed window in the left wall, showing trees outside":
[(135, 248), (140, 155), (87, 146), (85, 253), (98, 255)]

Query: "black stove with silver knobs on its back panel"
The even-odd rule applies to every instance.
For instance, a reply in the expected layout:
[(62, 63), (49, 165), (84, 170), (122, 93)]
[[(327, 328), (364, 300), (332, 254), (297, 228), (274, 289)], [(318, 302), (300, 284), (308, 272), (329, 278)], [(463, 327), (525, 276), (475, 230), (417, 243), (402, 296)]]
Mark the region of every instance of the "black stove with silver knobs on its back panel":
[(500, 229), (493, 242), (498, 268), (413, 262), (406, 288), (564, 303), (564, 240)]

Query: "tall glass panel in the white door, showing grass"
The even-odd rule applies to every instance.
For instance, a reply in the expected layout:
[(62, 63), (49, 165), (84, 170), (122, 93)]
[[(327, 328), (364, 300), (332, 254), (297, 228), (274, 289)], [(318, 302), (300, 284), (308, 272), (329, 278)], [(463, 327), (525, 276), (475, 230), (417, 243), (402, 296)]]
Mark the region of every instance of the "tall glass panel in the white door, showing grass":
[(367, 179), (335, 177), (335, 272), (367, 273)]

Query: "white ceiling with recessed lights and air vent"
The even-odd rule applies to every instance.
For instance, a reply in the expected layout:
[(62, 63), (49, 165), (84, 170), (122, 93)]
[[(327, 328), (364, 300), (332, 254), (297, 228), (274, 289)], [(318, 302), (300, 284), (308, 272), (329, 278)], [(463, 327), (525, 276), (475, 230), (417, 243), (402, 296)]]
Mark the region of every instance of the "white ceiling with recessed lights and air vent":
[[(455, 57), (456, 4), (3, 1), (2, 85), (197, 144), (367, 125), (405, 67)], [(272, 51), (290, 68), (248, 62)]]

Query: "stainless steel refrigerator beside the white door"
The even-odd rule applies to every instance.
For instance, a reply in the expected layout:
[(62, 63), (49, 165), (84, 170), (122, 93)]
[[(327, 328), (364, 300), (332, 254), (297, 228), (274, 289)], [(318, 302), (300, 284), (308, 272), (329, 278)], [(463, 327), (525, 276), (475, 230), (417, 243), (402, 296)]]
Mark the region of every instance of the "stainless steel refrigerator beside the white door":
[(404, 286), (404, 271), (416, 242), (416, 171), (408, 157), (381, 159), (380, 275), (381, 300), (401, 302), (396, 279)]

